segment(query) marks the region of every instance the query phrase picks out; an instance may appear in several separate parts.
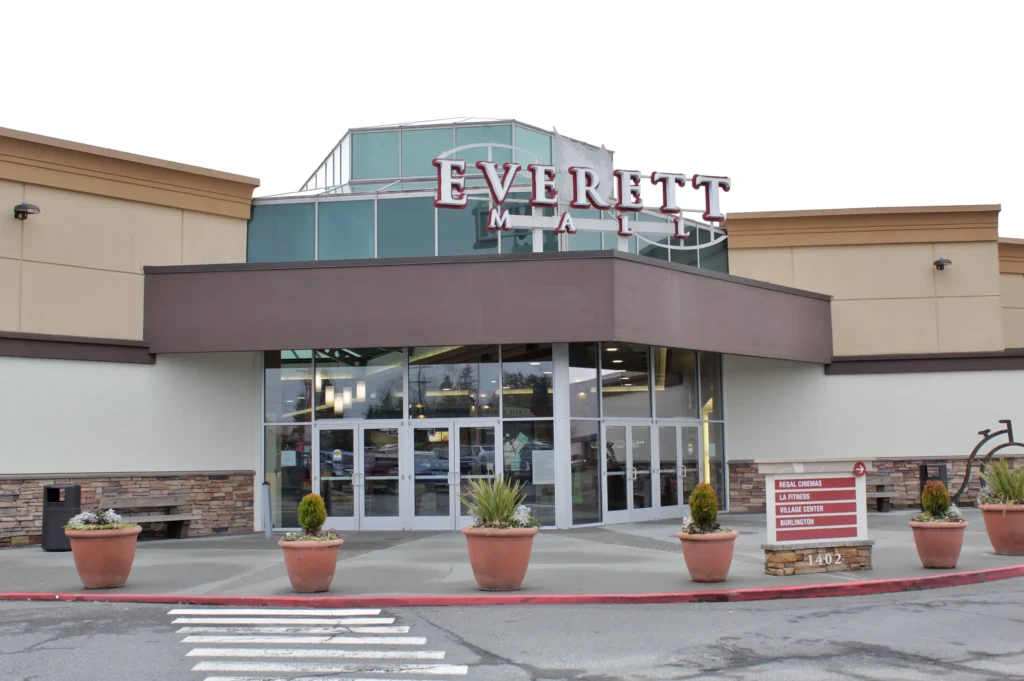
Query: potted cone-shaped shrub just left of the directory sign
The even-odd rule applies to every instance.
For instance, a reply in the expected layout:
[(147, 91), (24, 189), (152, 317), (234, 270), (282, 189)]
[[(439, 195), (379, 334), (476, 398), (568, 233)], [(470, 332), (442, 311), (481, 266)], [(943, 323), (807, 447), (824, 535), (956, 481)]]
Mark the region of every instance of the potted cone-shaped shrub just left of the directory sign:
[(676, 537), (683, 544), (683, 559), (694, 582), (725, 582), (732, 564), (735, 529), (718, 524), (718, 496), (707, 482), (690, 493), (690, 517)]

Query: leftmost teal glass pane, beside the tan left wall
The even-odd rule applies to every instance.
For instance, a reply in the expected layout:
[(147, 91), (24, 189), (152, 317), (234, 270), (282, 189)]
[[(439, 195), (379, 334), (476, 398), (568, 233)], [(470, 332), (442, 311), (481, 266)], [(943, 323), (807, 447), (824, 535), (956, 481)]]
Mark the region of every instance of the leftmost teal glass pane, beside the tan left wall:
[(312, 260), (313, 202), (256, 204), (246, 237), (247, 262)]

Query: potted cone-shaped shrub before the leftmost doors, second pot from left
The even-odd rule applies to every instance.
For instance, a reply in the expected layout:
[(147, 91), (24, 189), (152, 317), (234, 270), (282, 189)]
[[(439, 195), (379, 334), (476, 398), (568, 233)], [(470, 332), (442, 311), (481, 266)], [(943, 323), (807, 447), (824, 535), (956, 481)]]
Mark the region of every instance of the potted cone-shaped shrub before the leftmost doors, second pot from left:
[(292, 590), (300, 594), (327, 591), (338, 566), (338, 549), (344, 543), (333, 531), (324, 531), (327, 508), (319, 495), (306, 495), (299, 502), (301, 533), (289, 533), (278, 546), (285, 550), (285, 568)]

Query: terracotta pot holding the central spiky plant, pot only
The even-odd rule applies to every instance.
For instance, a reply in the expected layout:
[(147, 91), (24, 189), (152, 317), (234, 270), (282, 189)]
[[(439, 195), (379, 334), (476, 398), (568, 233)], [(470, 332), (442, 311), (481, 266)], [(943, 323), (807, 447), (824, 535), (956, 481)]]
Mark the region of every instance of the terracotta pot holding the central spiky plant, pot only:
[(463, 527), (469, 564), (483, 591), (518, 591), (529, 567), (537, 527)]

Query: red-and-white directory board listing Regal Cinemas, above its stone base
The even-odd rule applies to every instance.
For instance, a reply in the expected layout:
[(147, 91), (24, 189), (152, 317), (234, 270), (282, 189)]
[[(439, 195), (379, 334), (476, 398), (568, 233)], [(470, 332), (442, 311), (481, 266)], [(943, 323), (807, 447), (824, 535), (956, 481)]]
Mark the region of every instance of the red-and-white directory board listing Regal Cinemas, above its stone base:
[(866, 539), (862, 476), (772, 474), (766, 482), (769, 543)]

